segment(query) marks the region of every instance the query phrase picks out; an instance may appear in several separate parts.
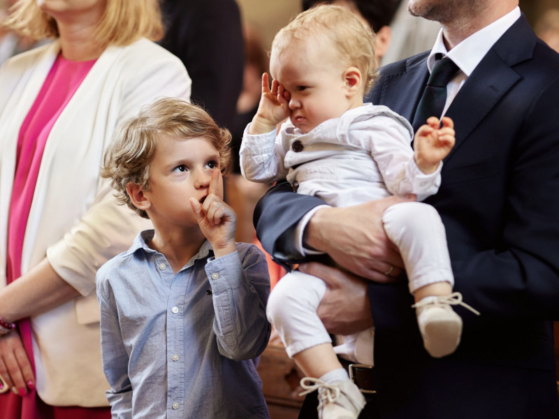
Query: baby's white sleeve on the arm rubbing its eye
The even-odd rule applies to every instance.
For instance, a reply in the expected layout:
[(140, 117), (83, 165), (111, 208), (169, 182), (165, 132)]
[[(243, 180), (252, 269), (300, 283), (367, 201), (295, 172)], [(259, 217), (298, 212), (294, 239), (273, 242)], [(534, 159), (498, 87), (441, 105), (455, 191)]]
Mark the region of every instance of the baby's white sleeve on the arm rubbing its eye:
[(259, 183), (285, 179), (288, 171), (284, 166), (285, 150), (282, 140), (276, 138), (276, 131), (251, 135), (248, 133), (249, 126), (242, 134), (239, 151), (242, 175), (251, 182)]

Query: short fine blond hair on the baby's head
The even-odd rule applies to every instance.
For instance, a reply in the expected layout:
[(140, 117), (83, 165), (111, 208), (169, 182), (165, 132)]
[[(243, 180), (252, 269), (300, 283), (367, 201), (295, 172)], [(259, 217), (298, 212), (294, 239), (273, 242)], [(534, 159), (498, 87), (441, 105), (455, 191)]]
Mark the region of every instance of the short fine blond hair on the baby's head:
[(344, 65), (355, 66), (363, 77), (363, 94), (371, 89), (377, 78), (375, 34), (354, 13), (342, 6), (324, 4), (299, 13), (276, 34), (274, 50), (283, 50), (293, 41), (305, 41), (317, 36), (335, 47), (337, 59)]

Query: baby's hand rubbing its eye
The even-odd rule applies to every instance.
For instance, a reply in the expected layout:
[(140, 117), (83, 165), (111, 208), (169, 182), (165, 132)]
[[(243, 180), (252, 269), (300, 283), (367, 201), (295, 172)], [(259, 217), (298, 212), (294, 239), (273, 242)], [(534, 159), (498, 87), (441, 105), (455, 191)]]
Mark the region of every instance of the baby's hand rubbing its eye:
[(265, 134), (291, 115), (289, 91), (273, 80), (272, 89), (268, 84), (268, 73), (262, 75), (262, 96), (256, 115), (249, 126), (249, 134)]

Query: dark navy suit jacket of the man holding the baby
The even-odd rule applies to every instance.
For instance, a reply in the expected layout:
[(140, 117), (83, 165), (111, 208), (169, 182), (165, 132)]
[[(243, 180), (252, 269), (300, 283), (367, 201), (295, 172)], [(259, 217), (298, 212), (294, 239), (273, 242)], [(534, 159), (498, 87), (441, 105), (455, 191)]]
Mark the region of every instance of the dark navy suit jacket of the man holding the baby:
[[(413, 119), (428, 52), (381, 69), (370, 100)], [(407, 284), (371, 283), (383, 418), (558, 418), (552, 319), (559, 318), (559, 54), (521, 17), (453, 100), (456, 146), (434, 205), (447, 230), (463, 337), (422, 348)], [(255, 211), (275, 256), (300, 259), (292, 230), (317, 198), (270, 191)], [(277, 217), (277, 219), (275, 219)]]

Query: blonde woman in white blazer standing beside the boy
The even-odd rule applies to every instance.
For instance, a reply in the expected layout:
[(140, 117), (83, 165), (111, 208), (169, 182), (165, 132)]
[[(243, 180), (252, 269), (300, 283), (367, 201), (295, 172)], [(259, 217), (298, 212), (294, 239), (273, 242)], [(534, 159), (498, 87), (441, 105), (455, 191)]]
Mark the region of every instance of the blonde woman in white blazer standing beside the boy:
[[(19, 0), (10, 16), (55, 41), (0, 68), (0, 418), (108, 418), (95, 273), (146, 221), (117, 205), (99, 167), (124, 119), (161, 96), (189, 100), (191, 80), (148, 41), (163, 33), (157, 0)], [(46, 134), (9, 281), (20, 128), (60, 56), (94, 64)]]

